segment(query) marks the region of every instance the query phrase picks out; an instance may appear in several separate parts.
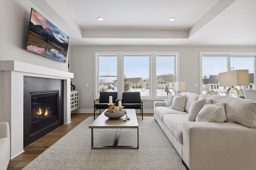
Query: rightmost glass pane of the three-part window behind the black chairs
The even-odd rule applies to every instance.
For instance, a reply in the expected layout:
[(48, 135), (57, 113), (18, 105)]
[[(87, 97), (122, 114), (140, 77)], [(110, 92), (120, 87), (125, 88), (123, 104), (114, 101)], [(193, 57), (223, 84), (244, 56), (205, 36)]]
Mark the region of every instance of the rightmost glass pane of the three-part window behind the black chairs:
[(167, 91), (174, 94), (175, 56), (156, 56), (156, 96), (167, 96)]

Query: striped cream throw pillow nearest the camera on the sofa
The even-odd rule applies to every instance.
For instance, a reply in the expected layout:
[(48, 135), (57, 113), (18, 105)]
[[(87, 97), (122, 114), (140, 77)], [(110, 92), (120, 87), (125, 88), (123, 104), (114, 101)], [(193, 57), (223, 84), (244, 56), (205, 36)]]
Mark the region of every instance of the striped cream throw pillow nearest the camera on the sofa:
[(224, 103), (206, 104), (199, 111), (196, 121), (224, 122), (226, 121)]

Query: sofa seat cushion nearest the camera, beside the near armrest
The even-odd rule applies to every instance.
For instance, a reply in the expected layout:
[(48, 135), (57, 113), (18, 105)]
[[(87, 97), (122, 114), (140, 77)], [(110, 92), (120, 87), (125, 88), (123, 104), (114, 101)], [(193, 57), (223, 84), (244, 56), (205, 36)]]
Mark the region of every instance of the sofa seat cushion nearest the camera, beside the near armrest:
[(182, 131), (183, 131), (183, 123), (188, 122), (187, 115), (177, 115), (177, 114), (166, 114), (163, 117), (163, 122), (166, 127), (172, 132), (172, 134), (183, 143), (182, 139)]

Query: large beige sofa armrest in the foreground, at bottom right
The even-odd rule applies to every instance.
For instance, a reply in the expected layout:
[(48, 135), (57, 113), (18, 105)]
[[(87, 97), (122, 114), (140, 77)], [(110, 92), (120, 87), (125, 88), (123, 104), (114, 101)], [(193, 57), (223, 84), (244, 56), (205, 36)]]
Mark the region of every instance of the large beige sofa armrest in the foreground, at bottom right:
[(182, 159), (190, 170), (254, 169), (256, 129), (238, 123), (183, 123)]

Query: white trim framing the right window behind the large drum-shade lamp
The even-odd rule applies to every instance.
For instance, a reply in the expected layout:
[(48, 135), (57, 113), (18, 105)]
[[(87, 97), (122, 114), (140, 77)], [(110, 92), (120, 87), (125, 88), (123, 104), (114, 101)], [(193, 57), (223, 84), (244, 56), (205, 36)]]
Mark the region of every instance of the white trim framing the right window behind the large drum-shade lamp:
[[(200, 83), (199, 83), (199, 94), (202, 94), (202, 57), (254, 57), (254, 87), (256, 85), (256, 53), (255, 52), (199, 52), (199, 75), (200, 75)], [(227, 62), (229, 64), (229, 62)], [(227, 69), (229, 66), (227, 66)], [(227, 70), (228, 71), (228, 70)]]

